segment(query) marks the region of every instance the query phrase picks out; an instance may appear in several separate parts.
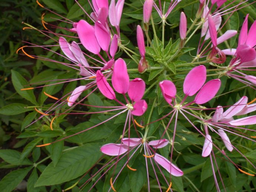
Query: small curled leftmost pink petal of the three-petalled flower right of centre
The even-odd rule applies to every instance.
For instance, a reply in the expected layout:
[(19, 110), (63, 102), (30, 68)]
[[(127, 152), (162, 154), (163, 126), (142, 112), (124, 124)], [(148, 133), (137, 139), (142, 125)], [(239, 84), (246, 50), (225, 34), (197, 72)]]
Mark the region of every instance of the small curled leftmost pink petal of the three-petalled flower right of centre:
[(163, 80), (159, 83), (164, 99), (171, 104), (171, 100), (176, 95), (176, 87), (170, 80)]

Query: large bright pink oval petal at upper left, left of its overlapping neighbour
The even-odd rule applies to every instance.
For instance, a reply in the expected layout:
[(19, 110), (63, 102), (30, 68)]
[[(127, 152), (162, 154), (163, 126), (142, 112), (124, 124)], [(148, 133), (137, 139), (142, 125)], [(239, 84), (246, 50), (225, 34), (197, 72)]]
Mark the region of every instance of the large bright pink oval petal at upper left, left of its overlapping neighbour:
[(83, 46), (94, 54), (99, 54), (101, 47), (95, 37), (94, 27), (85, 20), (80, 20), (77, 24), (78, 37)]

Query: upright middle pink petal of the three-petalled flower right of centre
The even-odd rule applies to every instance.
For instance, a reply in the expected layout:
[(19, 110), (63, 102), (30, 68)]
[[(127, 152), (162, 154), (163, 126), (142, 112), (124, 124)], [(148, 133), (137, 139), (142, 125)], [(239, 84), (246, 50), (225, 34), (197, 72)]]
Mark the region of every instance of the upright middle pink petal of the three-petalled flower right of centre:
[(206, 67), (203, 65), (194, 67), (186, 76), (183, 84), (185, 95), (192, 96), (201, 89), (206, 81)]

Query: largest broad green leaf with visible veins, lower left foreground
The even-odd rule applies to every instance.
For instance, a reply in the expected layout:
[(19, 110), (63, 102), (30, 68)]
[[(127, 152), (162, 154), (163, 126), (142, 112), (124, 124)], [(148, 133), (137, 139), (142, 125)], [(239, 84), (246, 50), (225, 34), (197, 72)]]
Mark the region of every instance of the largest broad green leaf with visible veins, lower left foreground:
[(35, 186), (56, 185), (81, 176), (101, 157), (100, 147), (89, 143), (63, 153), (56, 167), (50, 163), (45, 168)]

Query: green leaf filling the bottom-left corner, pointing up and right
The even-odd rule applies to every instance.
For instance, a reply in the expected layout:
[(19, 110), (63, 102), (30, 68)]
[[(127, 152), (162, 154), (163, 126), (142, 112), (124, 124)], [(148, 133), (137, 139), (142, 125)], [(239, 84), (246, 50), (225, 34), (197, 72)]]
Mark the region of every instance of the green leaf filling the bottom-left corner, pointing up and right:
[(1, 192), (13, 191), (13, 189), (15, 189), (16, 186), (19, 185), (20, 182), (22, 182), (22, 180), (31, 169), (32, 167), (18, 169), (4, 176), (4, 178), (0, 181)]

